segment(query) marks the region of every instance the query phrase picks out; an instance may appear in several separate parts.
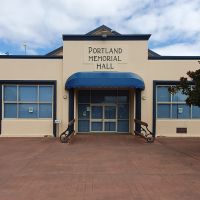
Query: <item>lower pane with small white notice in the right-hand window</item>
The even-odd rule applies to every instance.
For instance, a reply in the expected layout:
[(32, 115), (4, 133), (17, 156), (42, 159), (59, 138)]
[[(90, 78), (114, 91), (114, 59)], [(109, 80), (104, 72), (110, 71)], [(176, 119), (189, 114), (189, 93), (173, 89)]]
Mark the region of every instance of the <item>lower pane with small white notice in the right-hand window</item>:
[(172, 105), (172, 118), (173, 119), (189, 119), (190, 118), (190, 106), (186, 104)]

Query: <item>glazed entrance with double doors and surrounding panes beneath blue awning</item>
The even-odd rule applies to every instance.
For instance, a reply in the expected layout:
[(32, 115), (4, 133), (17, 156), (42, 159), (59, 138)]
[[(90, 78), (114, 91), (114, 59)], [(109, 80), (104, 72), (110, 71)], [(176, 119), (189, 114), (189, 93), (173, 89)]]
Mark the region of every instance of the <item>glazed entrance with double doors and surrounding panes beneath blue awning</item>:
[(129, 132), (129, 91), (79, 90), (78, 132)]

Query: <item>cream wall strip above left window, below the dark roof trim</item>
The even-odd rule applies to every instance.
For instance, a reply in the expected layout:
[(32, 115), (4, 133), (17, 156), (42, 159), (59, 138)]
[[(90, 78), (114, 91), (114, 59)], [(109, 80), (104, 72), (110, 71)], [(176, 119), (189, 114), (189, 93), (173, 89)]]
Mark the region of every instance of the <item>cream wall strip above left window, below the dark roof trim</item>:
[(59, 80), (60, 59), (0, 59), (0, 80)]

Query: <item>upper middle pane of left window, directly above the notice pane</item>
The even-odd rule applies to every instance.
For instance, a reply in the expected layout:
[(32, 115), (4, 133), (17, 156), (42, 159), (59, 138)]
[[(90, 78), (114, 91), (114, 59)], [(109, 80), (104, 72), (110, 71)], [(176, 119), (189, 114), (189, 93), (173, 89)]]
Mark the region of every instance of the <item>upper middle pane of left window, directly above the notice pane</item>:
[(19, 101), (37, 102), (37, 86), (19, 86)]

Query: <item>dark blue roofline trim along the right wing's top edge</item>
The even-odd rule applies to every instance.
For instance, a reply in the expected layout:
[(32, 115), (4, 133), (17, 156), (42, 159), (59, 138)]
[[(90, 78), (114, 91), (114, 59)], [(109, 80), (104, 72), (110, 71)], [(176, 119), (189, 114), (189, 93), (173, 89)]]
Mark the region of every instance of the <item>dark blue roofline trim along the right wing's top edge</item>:
[(153, 56), (149, 60), (200, 60), (200, 56)]

